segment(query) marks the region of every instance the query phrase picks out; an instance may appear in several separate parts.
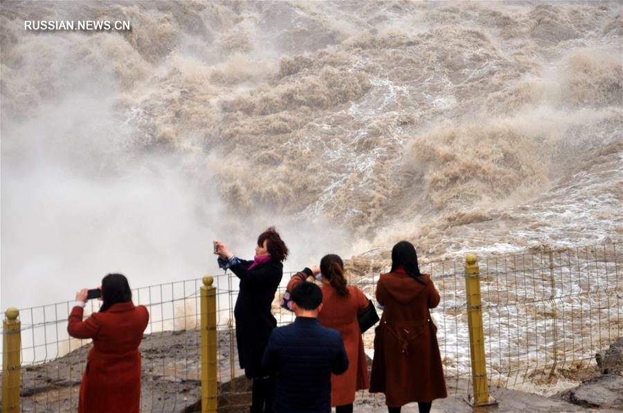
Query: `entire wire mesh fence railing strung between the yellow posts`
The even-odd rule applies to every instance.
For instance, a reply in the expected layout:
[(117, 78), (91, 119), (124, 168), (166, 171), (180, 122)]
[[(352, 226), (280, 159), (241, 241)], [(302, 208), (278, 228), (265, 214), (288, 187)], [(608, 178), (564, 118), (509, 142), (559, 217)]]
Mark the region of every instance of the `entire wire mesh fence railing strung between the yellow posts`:
[[(573, 383), (597, 374), (595, 353), (620, 338), (622, 331), (623, 258), (617, 244), (484, 257), (478, 264), (489, 387), (547, 393), (558, 380)], [(446, 380), (454, 380), (453, 388), (458, 389), (459, 380), (472, 374), (464, 259), (421, 263), (420, 268), (432, 275), (441, 294), (439, 306), (431, 313)], [(273, 302), (279, 325), (294, 320), (278, 305), (291, 275), (284, 274)], [(350, 276), (350, 282), (373, 301), (378, 279), (378, 272), (372, 271)], [(202, 285), (201, 279), (189, 279), (133, 292), (134, 302), (150, 311), (141, 343), (143, 412), (201, 411)], [(219, 411), (236, 411), (249, 405), (251, 393), (235, 349), (238, 282), (235, 276), (223, 274), (214, 277), (213, 285)], [(22, 412), (77, 408), (90, 340), (67, 335), (70, 306), (71, 302), (63, 302), (19, 310)], [(91, 300), (85, 313), (97, 311), (97, 306)], [(5, 313), (0, 315), (6, 318)], [(374, 329), (363, 339), (366, 353), (372, 356)], [(3, 385), (6, 374), (3, 371)]]

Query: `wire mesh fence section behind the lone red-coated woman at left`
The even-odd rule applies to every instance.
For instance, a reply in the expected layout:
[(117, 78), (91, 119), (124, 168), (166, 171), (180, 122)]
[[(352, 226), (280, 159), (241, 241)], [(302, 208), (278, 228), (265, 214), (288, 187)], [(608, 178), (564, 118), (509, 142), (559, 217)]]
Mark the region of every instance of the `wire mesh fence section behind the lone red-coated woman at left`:
[[(133, 290), (135, 304), (144, 304), (150, 311), (141, 343), (141, 406), (145, 412), (183, 410), (201, 396), (197, 391), (201, 378), (201, 285), (201, 279), (190, 279)], [(72, 412), (78, 408), (91, 340), (69, 337), (67, 318), (72, 305), (62, 302), (19, 310), (22, 412)], [(85, 317), (99, 305), (98, 300), (89, 300)]]

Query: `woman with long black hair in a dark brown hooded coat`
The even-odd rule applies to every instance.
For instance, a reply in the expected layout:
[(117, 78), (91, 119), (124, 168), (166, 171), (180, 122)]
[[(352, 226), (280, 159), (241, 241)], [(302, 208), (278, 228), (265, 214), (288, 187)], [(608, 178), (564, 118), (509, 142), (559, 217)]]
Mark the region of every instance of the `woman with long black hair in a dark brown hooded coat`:
[(377, 283), (377, 301), (385, 309), (375, 329), (370, 379), (370, 393), (384, 393), (390, 413), (412, 401), (427, 413), (435, 398), (447, 396), (437, 327), (428, 311), (439, 300), (430, 275), (419, 273), (413, 244), (396, 244), (392, 270)]

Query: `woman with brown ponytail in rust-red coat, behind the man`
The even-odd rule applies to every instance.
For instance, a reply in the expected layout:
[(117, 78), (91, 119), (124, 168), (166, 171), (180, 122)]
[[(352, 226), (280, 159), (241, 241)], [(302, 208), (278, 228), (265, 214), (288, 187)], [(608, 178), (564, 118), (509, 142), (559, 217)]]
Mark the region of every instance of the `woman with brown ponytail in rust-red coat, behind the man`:
[(346, 285), (344, 264), (338, 255), (325, 255), (320, 260), (320, 268), (305, 268), (293, 275), (288, 283), (288, 291), (294, 290), (298, 283), (311, 275), (320, 275), (323, 282), (323, 311), (318, 313), (318, 321), (342, 334), (348, 356), (348, 369), (338, 376), (331, 375), (331, 405), (336, 407), (336, 413), (349, 413), (352, 412), (356, 390), (370, 387), (363, 340), (357, 322), (357, 314), (368, 307), (368, 297), (356, 286)]

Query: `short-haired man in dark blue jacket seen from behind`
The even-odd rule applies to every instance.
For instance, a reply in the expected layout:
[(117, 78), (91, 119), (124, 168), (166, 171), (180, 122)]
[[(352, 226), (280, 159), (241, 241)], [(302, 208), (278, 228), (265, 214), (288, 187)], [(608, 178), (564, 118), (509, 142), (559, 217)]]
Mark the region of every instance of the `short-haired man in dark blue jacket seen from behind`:
[(291, 293), (296, 320), (273, 329), (263, 365), (277, 376), (273, 412), (331, 412), (331, 374), (348, 368), (339, 331), (318, 322), (323, 292), (302, 282)]

